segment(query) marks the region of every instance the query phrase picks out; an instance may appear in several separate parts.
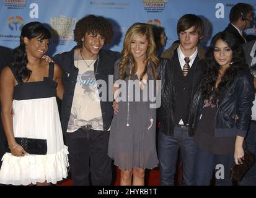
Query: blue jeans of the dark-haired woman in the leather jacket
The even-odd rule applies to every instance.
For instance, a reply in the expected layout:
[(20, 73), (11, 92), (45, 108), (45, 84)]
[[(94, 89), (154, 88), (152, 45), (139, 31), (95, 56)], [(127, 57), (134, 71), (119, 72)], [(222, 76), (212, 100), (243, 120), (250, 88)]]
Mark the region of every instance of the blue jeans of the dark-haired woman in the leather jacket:
[[(198, 148), (196, 156), (195, 168), (195, 184), (196, 186), (209, 186), (213, 171), (218, 171), (218, 176), (223, 174), (224, 178), (215, 178), (216, 186), (231, 186), (232, 181), (229, 179), (229, 170), (234, 164), (234, 155), (216, 155), (212, 152), (207, 152)], [(216, 166), (218, 165), (218, 166)], [(224, 173), (221, 173), (221, 165)], [(224, 169), (223, 169), (224, 168)]]

